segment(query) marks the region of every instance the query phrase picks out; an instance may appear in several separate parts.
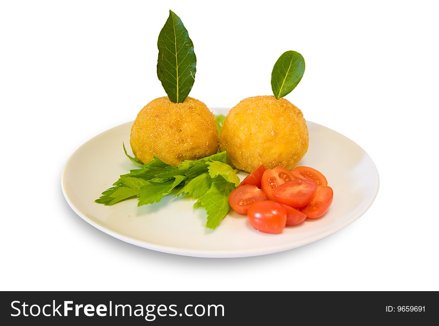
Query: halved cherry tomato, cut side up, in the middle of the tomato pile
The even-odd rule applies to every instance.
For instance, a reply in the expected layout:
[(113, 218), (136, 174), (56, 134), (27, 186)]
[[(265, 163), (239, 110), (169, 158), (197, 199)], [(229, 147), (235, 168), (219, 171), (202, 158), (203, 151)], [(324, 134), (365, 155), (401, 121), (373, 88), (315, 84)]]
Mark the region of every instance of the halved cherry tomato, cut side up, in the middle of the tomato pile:
[(309, 204), (316, 189), (313, 181), (294, 179), (273, 188), (273, 197), (276, 202), (300, 208)]

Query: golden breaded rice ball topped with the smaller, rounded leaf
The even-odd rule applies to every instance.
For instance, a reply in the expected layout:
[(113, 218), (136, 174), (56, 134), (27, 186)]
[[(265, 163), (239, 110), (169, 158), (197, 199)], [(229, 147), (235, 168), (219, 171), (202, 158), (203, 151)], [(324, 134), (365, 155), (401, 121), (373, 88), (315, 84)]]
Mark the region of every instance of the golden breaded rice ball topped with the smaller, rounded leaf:
[(219, 143), (241, 170), (251, 172), (260, 164), (292, 169), (308, 150), (308, 127), (302, 111), (289, 101), (249, 97), (228, 113)]

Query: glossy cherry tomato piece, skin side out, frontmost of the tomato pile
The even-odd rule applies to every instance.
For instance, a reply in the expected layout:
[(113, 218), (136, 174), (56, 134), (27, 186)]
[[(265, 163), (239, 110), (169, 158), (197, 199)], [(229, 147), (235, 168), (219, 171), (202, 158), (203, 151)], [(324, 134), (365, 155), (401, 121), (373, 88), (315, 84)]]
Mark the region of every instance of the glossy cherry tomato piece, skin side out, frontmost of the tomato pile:
[(281, 204), (264, 200), (251, 205), (247, 216), (251, 226), (256, 230), (265, 233), (280, 233), (285, 228), (287, 213)]

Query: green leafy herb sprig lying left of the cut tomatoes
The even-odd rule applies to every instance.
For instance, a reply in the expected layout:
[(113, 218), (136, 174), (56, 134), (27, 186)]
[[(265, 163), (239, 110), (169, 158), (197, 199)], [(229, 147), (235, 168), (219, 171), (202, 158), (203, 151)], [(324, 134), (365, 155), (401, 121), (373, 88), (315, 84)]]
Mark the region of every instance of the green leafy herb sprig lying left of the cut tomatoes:
[(95, 200), (104, 205), (114, 205), (122, 200), (138, 198), (138, 206), (159, 202), (164, 196), (186, 196), (197, 199), (194, 208), (206, 209), (206, 227), (215, 229), (230, 209), (228, 196), (239, 185), (239, 178), (227, 161), (225, 152), (196, 161), (183, 161), (178, 166), (164, 163), (158, 158), (142, 164), (125, 155), (140, 168), (122, 174), (113, 186)]

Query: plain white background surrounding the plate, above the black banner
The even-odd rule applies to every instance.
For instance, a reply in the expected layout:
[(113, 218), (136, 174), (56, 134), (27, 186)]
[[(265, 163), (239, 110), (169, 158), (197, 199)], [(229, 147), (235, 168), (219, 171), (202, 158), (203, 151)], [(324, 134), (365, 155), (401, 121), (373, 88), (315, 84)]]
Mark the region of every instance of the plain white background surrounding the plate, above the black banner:
[[(2, 1), (0, 290), (439, 290), (435, 2)], [(380, 173), (359, 220), (288, 252), (216, 260), (135, 247), (75, 215), (60, 186), (69, 156), (165, 95), (168, 9), (195, 44), (191, 96), (209, 107), (269, 95), (278, 56), (302, 53), (286, 98)]]

